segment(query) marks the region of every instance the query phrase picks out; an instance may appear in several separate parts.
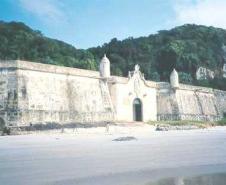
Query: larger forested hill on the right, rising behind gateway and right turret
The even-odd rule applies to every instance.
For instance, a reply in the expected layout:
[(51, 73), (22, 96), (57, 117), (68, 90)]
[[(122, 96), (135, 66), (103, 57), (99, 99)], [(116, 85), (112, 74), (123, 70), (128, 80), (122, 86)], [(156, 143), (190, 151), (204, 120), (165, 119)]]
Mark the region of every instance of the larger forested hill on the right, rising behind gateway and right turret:
[(204, 66), (220, 77), (225, 62), (224, 43), (226, 31), (223, 29), (184, 25), (148, 37), (123, 41), (112, 39), (110, 43), (90, 51), (98, 57), (107, 52), (113, 64), (112, 71), (118, 75), (126, 75), (128, 69), (139, 63), (148, 79), (166, 81), (172, 69), (176, 68), (182, 82), (219, 86), (223, 79), (197, 82), (195, 72), (199, 66)]

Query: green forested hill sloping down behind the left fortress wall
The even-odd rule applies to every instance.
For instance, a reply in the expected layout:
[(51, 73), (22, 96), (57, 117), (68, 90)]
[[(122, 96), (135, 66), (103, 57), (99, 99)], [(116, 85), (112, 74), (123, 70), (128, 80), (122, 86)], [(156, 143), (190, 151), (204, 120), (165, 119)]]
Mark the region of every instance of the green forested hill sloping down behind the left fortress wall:
[(50, 39), (23, 23), (0, 22), (0, 59), (21, 59), (46, 64), (97, 68), (92, 53)]

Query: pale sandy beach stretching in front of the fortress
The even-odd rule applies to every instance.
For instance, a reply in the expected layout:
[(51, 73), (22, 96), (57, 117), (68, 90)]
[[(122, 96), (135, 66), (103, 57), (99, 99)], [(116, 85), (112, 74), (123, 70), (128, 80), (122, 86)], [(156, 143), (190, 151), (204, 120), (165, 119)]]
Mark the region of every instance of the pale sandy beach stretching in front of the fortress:
[(0, 137), (4, 185), (142, 185), (218, 172), (226, 172), (225, 127), (110, 127)]

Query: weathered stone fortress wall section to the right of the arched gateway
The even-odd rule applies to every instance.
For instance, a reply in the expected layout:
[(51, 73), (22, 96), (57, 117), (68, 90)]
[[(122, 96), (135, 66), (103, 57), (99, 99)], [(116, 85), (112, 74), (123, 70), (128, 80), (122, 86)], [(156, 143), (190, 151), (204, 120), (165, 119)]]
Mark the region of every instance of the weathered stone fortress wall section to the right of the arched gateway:
[(223, 116), (223, 106), (210, 88), (181, 84), (179, 89), (173, 90), (168, 86), (159, 90), (157, 99), (159, 120), (213, 121)]

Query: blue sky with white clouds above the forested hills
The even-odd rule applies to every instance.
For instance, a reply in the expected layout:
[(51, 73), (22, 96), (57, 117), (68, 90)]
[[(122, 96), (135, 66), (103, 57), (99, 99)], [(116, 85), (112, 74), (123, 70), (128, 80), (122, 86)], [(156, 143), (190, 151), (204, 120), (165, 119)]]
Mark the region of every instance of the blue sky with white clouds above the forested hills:
[(226, 28), (226, 0), (1, 0), (0, 19), (89, 48), (185, 23)]

